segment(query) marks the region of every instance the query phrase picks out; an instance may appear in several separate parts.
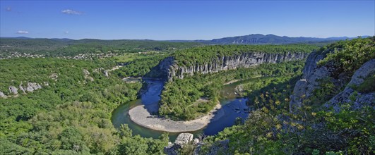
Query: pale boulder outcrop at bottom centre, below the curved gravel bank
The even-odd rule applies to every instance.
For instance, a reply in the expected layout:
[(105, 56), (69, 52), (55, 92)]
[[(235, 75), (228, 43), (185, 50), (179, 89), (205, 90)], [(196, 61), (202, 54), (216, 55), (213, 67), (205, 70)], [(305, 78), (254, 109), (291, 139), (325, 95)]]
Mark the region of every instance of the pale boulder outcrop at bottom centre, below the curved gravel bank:
[(183, 148), (185, 144), (188, 144), (193, 140), (194, 135), (191, 133), (181, 133), (177, 136), (174, 143), (169, 143), (167, 147), (164, 147), (164, 153), (168, 155), (179, 154), (178, 150)]

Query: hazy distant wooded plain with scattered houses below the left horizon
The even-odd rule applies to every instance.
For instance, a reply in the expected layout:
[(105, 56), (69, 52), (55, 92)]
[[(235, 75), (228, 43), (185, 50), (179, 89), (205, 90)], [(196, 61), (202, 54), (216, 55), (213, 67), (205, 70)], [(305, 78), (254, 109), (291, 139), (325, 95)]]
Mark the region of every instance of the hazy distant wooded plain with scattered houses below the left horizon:
[(196, 42), (160, 42), (153, 40), (100, 39), (17, 39), (0, 38), (0, 57), (18, 54), (37, 54), (47, 57), (77, 56), (78, 54), (124, 54), (144, 51), (175, 51), (193, 46)]

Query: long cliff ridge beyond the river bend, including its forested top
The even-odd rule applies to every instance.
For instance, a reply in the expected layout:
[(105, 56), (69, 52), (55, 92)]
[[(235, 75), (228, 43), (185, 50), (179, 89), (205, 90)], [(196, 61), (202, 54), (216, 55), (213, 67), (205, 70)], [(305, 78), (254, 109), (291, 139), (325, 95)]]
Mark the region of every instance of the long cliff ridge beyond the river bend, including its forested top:
[(209, 46), (178, 51), (155, 68), (162, 78), (171, 81), (196, 73), (249, 68), (262, 63), (302, 60), (316, 46)]

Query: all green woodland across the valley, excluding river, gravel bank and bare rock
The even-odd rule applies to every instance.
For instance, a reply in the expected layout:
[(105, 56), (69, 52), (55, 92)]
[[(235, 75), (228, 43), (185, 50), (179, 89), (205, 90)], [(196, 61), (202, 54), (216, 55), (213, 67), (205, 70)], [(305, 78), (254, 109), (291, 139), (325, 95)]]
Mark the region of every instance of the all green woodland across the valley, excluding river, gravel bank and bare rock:
[[(70, 45), (69, 42), (78, 43)], [(48, 50), (67, 48), (59, 46), (53, 49), (54, 46), (51, 46), (52, 49), (47, 49), (49, 44), (79, 46), (83, 49), (77, 50), (80, 53), (90, 51), (90, 48), (100, 48), (88, 45), (95, 42), (106, 41), (47, 39), (22, 43), (25, 45), (14, 44), (20, 44), (18, 49), (25, 47), (23, 50), (30, 50), (28, 48), (35, 45), (32, 47), (35, 48), (35, 54), (47, 54), (50, 53)], [(126, 52), (138, 50), (140, 44), (143, 44), (141, 42), (131, 45), (130, 51)], [(86, 43), (84, 46), (79, 45)], [(3, 44), (1, 39), (1, 46)], [(157, 51), (153, 47), (160, 44), (155, 44), (147, 45), (144, 49)], [(105, 46), (112, 45), (108, 43)], [(164, 154), (163, 148), (169, 141), (167, 134), (158, 139), (144, 138), (133, 135), (126, 124), (119, 129), (112, 125), (112, 111), (120, 104), (137, 99), (142, 87), (141, 82), (126, 83), (121, 80), (122, 77), (158, 77), (153, 68), (166, 56), (175, 56), (181, 60), (179, 62), (189, 65), (215, 56), (242, 54), (246, 51), (274, 53), (318, 49), (302, 44), (203, 46), (191, 49), (184, 48), (200, 45), (172, 45), (166, 45), (162, 50), (183, 50), (171, 55), (155, 54), (128, 59), (126, 66), (112, 70), (108, 77), (104, 70), (118, 65), (114, 58), (0, 60), (0, 92), (8, 96), (0, 97), (0, 154)], [(4, 49), (1, 47), (1, 50)], [(78, 53), (74, 51), (66, 54)], [(336, 42), (322, 47), (317, 53), (326, 55), (318, 66), (334, 68), (331, 70), (333, 78), (343, 75), (351, 77), (364, 62), (375, 58), (375, 37)], [(354, 87), (357, 94), (350, 97), (352, 101), (340, 103), (340, 111), (322, 106), (343, 89), (335, 87), (328, 79), (321, 81), (321, 88), (314, 92), (311, 99), (304, 101), (299, 111), (290, 113), (290, 95), (301, 77), (303, 66), (304, 61), (290, 61), (211, 74), (197, 73), (182, 80), (176, 79), (165, 84), (159, 113), (174, 120), (191, 120), (213, 109), (225, 82), (256, 77), (241, 85), (240, 94), (248, 98), (247, 104), (252, 109), (249, 117), (225, 128), (218, 135), (205, 137), (198, 147), (198, 154), (209, 154), (213, 148), (216, 148), (217, 154), (374, 154), (374, 105), (370, 103), (359, 109), (352, 109), (352, 106), (356, 97), (375, 91), (375, 75), (370, 75), (362, 85)], [(350, 78), (344, 80), (347, 83)], [(40, 84), (42, 88), (27, 93), (18, 89), (16, 95), (8, 90), (9, 86), (18, 88), (28, 82)], [(197, 103), (196, 100), (201, 98), (208, 99), (208, 102)], [(228, 143), (225, 145), (223, 142)], [(181, 154), (192, 154), (194, 149), (195, 144), (188, 144), (179, 151)]]

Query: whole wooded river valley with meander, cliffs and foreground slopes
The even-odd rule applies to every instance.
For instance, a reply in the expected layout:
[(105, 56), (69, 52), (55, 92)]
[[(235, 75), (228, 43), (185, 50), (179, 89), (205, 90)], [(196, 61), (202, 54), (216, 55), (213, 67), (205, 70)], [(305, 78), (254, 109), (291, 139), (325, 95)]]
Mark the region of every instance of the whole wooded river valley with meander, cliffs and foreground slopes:
[[(367, 142), (374, 135), (374, 37), (327, 46), (168, 44), (165, 50), (160, 47), (165, 42), (155, 42), (141, 53), (108, 57), (57, 53), (0, 60), (0, 150), (289, 154), (346, 148), (356, 154), (373, 149)], [(191, 140), (180, 144), (186, 132)], [(324, 137), (327, 133), (341, 137)], [(355, 139), (359, 135), (364, 138)], [(311, 141), (315, 136), (322, 141)], [(350, 142), (326, 145), (336, 138)], [(359, 149), (352, 142), (359, 142)]]

